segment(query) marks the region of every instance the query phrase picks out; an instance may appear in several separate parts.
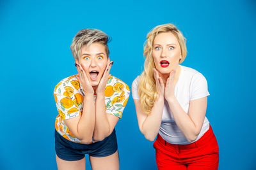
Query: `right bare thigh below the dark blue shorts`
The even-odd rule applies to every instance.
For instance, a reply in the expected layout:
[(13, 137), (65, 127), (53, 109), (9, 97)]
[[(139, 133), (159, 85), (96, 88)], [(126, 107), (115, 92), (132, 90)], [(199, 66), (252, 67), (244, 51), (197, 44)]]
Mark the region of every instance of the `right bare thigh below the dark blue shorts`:
[(118, 170), (119, 169), (119, 155), (116, 150), (115, 153), (107, 157), (89, 157), (93, 170)]

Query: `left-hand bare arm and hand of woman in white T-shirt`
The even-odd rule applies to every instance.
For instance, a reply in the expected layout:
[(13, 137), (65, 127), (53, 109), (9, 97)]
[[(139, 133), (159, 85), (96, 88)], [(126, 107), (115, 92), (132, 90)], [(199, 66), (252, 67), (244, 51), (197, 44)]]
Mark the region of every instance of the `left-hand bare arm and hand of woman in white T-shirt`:
[(164, 83), (156, 69), (154, 69), (154, 78), (156, 80), (158, 97), (154, 103), (151, 113), (149, 115), (144, 113), (141, 110), (140, 101), (134, 99), (140, 131), (149, 141), (154, 141), (159, 132), (164, 108)]

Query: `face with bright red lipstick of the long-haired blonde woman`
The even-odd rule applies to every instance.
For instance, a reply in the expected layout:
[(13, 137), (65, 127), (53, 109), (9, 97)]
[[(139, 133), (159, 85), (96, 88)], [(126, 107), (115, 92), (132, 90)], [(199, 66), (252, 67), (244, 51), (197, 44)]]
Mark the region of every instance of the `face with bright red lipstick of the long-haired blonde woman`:
[(152, 56), (159, 73), (170, 74), (172, 70), (177, 69), (181, 59), (181, 50), (179, 41), (172, 32), (161, 32), (156, 36)]

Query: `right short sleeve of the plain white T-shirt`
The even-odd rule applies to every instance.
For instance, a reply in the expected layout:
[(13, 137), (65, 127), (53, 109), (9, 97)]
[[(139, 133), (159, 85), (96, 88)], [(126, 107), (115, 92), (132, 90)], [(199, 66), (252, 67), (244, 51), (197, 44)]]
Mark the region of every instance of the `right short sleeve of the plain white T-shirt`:
[(189, 100), (192, 101), (209, 95), (207, 80), (201, 73), (196, 73), (191, 80)]

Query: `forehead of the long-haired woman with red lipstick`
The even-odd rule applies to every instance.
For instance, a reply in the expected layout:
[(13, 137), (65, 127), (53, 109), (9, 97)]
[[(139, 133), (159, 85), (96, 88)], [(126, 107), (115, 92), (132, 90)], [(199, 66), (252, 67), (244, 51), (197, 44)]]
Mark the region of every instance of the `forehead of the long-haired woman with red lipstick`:
[(160, 32), (154, 39), (153, 44), (168, 45), (179, 44), (178, 39), (172, 32)]

